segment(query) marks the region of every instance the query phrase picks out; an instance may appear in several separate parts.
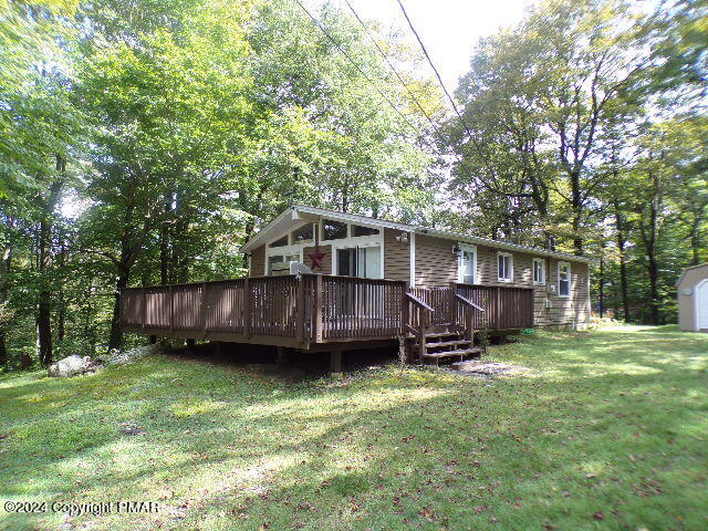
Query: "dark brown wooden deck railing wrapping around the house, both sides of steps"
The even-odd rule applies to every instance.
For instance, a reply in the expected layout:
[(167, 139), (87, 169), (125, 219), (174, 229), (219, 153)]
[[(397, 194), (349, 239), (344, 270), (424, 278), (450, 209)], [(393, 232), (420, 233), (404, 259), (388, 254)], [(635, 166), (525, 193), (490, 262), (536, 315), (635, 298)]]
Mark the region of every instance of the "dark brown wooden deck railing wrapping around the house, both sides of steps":
[(309, 350), (393, 340), (435, 326), (470, 333), (485, 325), (531, 327), (533, 290), (469, 284), (409, 290), (403, 281), (322, 274), (243, 278), (125, 289), (121, 324), (148, 335)]

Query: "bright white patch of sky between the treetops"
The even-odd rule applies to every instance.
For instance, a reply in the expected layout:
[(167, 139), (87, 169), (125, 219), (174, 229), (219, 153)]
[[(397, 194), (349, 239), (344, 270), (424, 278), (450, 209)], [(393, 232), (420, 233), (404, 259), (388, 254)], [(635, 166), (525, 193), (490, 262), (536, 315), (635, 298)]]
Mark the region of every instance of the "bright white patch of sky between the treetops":
[[(341, 3), (348, 12), (344, 0)], [(393, 25), (415, 42), (396, 0), (348, 0), (363, 19)], [(452, 92), (469, 66), (475, 43), (500, 27), (514, 25), (532, 0), (402, 0), (447, 88)], [(424, 65), (429, 69), (429, 66)], [(426, 72), (434, 75), (433, 71)]]

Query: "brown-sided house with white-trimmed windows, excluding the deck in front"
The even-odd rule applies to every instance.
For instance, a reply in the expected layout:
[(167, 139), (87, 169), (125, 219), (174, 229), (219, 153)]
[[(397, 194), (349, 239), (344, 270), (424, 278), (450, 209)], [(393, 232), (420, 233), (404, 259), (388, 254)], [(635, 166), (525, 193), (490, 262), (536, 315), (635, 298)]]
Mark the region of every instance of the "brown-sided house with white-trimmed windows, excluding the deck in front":
[(529, 246), (294, 205), (242, 251), (250, 277), (294, 261), (317, 273), (410, 287), (529, 288), (534, 326), (583, 327), (590, 317), (591, 260)]

